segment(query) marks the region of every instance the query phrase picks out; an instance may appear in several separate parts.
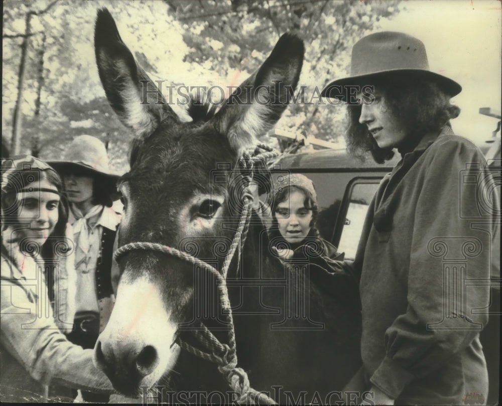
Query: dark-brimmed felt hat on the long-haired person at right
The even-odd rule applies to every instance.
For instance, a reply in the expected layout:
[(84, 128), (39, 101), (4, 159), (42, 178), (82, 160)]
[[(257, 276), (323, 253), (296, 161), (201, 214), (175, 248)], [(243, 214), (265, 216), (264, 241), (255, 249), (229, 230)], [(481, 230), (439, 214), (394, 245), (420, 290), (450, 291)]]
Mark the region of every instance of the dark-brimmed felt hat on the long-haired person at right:
[(384, 31), (370, 34), (354, 44), (350, 76), (333, 80), (321, 91), (321, 96), (347, 101), (350, 91), (354, 95), (354, 90), (349, 91), (348, 86), (372, 85), (375, 80), (396, 74), (408, 75), (410, 80), (416, 75), (430, 78), (450, 97), (462, 90), (454, 80), (429, 69), (422, 41), (404, 33)]

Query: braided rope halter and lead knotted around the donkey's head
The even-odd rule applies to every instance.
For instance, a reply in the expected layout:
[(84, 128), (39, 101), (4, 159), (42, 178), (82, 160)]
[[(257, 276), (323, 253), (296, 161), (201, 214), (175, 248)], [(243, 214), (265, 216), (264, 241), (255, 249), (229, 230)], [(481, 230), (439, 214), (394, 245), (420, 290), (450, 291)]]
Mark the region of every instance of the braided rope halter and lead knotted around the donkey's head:
[[(230, 299), (228, 298), (228, 289), (226, 286), (228, 267), (230, 266), (230, 262), (237, 248), (238, 272), (240, 266), (240, 255), (247, 236), (247, 231), (249, 229), (249, 219), (253, 205), (253, 194), (249, 190), (249, 183), (253, 180), (255, 162), (262, 161), (265, 164), (268, 159), (278, 155), (276, 151), (273, 151), (272, 148), (268, 147), (267, 145), (259, 144), (258, 148), (264, 149), (267, 152), (261, 153), (258, 156), (252, 156), (252, 154), (244, 152), (242, 154), (242, 157), (239, 158), (238, 161), (238, 164), (244, 165), (244, 169), (249, 169), (250, 174), (246, 177), (247, 186), (244, 188), (242, 195), (242, 212), (239, 220), (239, 225), (233, 237), (233, 241), (229, 247), (227, 256), (225, 257), (225, 261), (223, 262), (221, 274), (211, 265), (190, 254), (179, 251), (176, 248), (157, 243), (139, 242), (126, 244), (114, 252), (113, 258), (116, 261), (122, 255), (137, 250), (157, 251), (180, 258), (187, 262), (191, 262), (195, 266), (198, 266), (201, 269), (207, 269), (209, 272), (211, 272), (218, 281), (218, 295), (221, 302), (221, 308), (223, 310), (222, 313), (223, 315), (225, 315), (230, 326), (228, 330), (228, 344), (222, 344), (203, 323), (200, 324), (200, 329), (195, 330), (193, 333), (197, 340), (203, 345), (204, 348), (207, 348), (209, 352), (202, 351), (192, 346), (191, 344), (188, 344), (184, 340), (181, 340), (179, 335), (176, 337), (175, 342), (178, 342), (181, 348), (185, 349), (191, 354), (216, 363), (218, 365), (218, 370), (226, 378), (233, 391), (239, 393), (240, 397), (236, 399), (238, 403), (247, 403), (247, 401), (250, 400), (251, 402), (258, 404), (276, 404), (276, 402), (265, 393), (257, 391), (250, 387), (247, 373), (242, 368), (237, 367), (235, 330), (233, 325), (232, 310), (230, 308)], [(256, 150), (254, 152), (256, 152)]]

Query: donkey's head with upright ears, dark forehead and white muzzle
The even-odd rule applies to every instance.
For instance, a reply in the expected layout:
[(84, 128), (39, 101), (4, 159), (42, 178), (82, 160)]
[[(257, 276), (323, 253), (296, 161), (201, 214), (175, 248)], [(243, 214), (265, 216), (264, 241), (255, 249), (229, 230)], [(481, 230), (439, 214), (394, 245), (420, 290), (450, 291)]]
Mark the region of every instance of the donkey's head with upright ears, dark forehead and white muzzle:
[[(98, 12), (94, 41), (106, 97), (136, 135), (131, 170), (119, 182), (119, 245), (141, 241), (183, 250), (192, 240), (198, 242), (194, 255), (211, 258), (214, 239), (232, 233), (222, 227), (231, 217), (228, 181), (211, 181), (211, 174), (230, 173), (242, 150), (279, 120), (298, 82), (302, 41), (282, 36), (216, 114), (192, 114), (192, 122), (177, 117), (136, 64), (106, 10)], [(178, 324), (193, 319), (194, 266), (155, 251), (132, 251), (118, 262), (117, 301), (94, 360), (116, 389), (136, 394), (173, 365)]]

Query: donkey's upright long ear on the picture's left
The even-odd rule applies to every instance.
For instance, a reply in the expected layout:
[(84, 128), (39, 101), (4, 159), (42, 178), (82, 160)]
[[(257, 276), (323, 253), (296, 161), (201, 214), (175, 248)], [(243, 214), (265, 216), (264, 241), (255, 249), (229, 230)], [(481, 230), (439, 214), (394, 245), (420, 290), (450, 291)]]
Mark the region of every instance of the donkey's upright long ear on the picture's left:
[(97, 13), (94, 48), (106, 97), (123, 125), (137, 136), (147, 137), (165, 118), (179, 121), (157, 86), (136, 63), (106, 9)]

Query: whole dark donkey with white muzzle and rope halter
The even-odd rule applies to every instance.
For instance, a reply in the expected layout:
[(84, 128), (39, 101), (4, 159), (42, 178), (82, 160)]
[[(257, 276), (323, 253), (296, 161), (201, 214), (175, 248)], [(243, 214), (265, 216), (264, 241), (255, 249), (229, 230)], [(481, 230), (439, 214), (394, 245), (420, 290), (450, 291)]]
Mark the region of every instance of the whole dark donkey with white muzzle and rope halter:
[[(189, 108), (192, 122), (175, 114), (136, 63), (107, 10), (98, 12), (94, 43), (106, 97), (136, 135), (131, 170), (118, 183), (124, 205), (119, 246), (173, 247), (221, 270), (239, 223), (240, 196), (248, 191), (249, 173), (239, 168), (239, 157), (287, 108), (288, 88), (296, 88), (302, 68), (303, 42), (283, 35), (217, 112), (207, 113), (195, 100)], [(261, 179), (270, 187), (267, 176)], [(193, 342), (190, 327), (201, 323), (226, 344), (227, 318), (214, 293), (221, 281), (200, 265), (155, 248), (130, 250), (117, 262), (117, 300), (94, 349), (96, 366), (131, 397), (157, 382), (184, 396), (167, 401), (211, 402), (215, 399), (197, 394), (229, 393), (221, 365), (218, 370), (178, 345), (180, 337)], [(266, 228), (252, 211), (226, 284), (238, 366), (253, 388), (276, 401), (288, 400), (284, 396), (302, 403), (325, 402), (326, 396), (339, 400), (334, 391), (360, 366), (355, 282), (314, 265), (308, 271), (305, 277), (304, 268), (286, 267), (273, 255)]]

